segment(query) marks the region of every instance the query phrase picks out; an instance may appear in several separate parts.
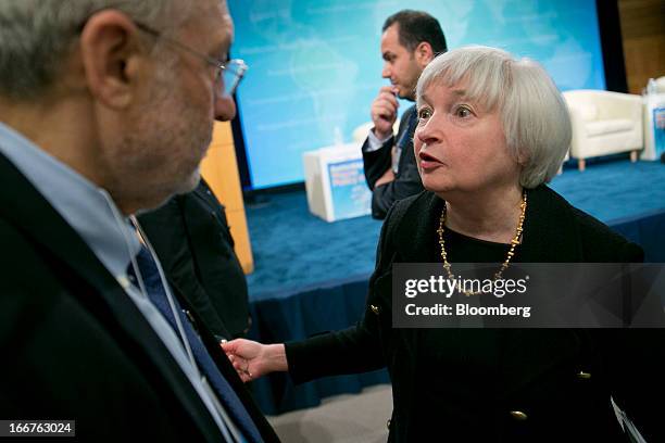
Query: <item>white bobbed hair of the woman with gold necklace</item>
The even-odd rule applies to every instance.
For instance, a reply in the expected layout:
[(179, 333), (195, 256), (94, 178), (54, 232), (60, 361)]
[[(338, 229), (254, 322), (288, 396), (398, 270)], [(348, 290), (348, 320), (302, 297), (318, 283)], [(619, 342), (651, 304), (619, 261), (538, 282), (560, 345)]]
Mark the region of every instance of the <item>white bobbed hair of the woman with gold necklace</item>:
[(566, 103), (544, 68), (495, 48), (454, 49), (423, 71), (417, 101), (432, 84), (461, 83), (469, 100), (499, 111), (509, 151), (523, 165), (519, 183), (535, 188), (550, 181), (568, 151), (572, 129)]

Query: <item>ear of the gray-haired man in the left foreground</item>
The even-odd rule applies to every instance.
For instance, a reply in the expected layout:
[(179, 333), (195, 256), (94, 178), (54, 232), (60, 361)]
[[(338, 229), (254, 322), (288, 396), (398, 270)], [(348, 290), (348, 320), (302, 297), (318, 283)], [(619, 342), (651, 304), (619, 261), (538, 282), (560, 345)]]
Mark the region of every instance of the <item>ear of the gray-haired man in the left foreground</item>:
[(80, 35), (87, 87), (104, 105), (122, 110), (136, 93), (141, 61), (138, 28), (120, 11), (92, 15)]

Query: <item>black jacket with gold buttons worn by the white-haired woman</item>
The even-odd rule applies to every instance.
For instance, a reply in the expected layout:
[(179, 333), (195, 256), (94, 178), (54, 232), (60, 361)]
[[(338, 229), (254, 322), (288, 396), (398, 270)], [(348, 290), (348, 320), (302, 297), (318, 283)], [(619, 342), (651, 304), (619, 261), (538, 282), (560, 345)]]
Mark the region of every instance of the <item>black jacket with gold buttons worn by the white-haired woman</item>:
[[(441, 262), (436, 229), (442, 205), (423, 192), (393, 206), (384, 224), (364, 318), (343, 331), (287, 343), (294, 381), (387, 366), (394, 401), (389, 440), (394, 442), (626, 441), (611, 395), (647, 441), (665, 441), (663, 329), (392, 328), (391, 265)], [(549, 188), (528, 192), (516, 262), (642, 260), (638, 245)], [(591, 378), (578, 377), (580, 371)], [(515, 410), (527, 419), (516, 419)]]

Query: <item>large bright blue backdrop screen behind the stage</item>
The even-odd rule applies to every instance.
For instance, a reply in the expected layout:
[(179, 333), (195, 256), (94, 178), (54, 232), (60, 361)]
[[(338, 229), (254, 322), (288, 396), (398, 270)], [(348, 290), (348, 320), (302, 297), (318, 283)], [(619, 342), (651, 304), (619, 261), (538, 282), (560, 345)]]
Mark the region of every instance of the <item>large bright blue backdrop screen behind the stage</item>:
[[(350, 141), (381, 79), (380, 36), (397, 0), (229, 0), (237, 94), (252, 188), (303, 180), (302, 153)], [(561, 90), (605, 89), (594, 0), (412, 0), (449, 49), (503, 48), (542, 63)], [(402, 102), (400, 110), (409, 106)]]

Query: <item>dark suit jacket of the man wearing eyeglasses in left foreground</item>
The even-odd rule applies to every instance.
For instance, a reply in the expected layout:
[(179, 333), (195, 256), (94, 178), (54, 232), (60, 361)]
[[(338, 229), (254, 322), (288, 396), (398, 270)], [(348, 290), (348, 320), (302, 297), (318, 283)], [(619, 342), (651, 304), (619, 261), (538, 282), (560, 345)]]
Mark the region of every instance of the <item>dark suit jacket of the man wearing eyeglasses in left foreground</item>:
[[(0, 244), (0, 417), (74, 419), (83, 441), (221, 440), (136, 305), (2, 155)], [(202, 338), (264, 439), (277, 441), (216, 340)]]

